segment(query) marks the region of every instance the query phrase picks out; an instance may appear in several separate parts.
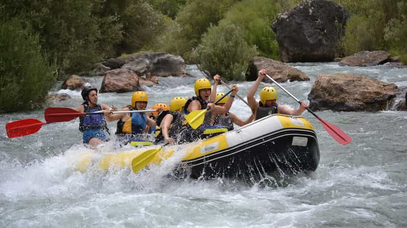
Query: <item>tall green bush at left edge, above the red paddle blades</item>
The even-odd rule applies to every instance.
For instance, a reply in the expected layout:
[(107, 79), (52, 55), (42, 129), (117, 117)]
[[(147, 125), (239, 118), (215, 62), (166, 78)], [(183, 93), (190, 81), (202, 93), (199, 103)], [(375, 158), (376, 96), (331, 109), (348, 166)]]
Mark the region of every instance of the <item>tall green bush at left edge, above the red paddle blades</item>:
[(56, 83), (56, 66), (31, 27), (0, 13), (0, 112), (36, 108)]

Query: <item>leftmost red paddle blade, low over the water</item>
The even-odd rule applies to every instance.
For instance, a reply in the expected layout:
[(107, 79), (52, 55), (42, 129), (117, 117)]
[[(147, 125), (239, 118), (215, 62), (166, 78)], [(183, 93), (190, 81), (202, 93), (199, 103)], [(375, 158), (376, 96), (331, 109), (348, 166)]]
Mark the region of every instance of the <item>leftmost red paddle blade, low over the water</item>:
[(6, 124), (7, 136), (9, 138), (15, 138), (34, 134), (35, 132), (39, 131), (41, 126), (44, 124), (44, 122), (37, 119), (24, 119), (10, 122)]

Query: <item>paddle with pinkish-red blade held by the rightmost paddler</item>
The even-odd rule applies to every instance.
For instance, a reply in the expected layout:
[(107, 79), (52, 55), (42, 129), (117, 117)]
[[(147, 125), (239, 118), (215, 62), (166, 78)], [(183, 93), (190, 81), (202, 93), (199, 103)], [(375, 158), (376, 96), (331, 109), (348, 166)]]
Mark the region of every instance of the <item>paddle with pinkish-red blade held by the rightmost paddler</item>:
[[(282, 90), (284, 90), (284, 92), (286, 92), (288, 95), (290, 95), (292, 98), (294, 98), (294, 100), (296, 100), (299, 104), (301, 104), (301, 101), (299, 101), (296, 97), (294, 97), (290, 92), (288, 92), (283, 86), (281, 86), (280, 84), (278, 84), (273, 78), (271, 78), (268, 74), (266, 74), (266, 76), (272, 81), (274, 82), (279, 88), (281, 88)], [(324, 120), (322, 120), (320, 117), (318, 117), (311, 109), (309, 109), (308, 107), (306, 108), (312, 115), (314, 115), (314, 117), (316, 117), (321, 123), (322, 126), (325, 128), (326, 132), (328, 132), (328, 134), (330, 134), (335, 140), (338, 141), (338, 143), (342, 144), (342, 145), (346, 145), (349, 144), (352, 139), (350, 138), (349, 135), (347, 135), (345, 132), (343, 132), (338, 126), (335, 126), (334, 124), (328, 123)]]

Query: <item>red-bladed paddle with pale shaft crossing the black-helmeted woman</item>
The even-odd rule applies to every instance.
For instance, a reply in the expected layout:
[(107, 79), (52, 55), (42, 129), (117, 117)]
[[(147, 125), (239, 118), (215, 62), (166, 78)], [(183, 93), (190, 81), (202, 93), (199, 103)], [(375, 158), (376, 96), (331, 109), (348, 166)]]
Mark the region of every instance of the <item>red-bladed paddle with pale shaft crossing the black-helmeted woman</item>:
[[(131, 112), (149, 112), (149, 111), (157, 111), (157, 110), (149, 109), (149, 110), (111, 111), (110, 113), (115, 114), (115, 113), (131, 113)], [(79, 112), (72, 108), (66, 108), (66, 107), (48, 107), (45, 109), (45, 121), (47, 123), (67, 122), (67, 121), (71, 121), (80, 116), (101, 115), (103, 113), (104, 113), (104, 110), (95, 111), (95, 112)]]

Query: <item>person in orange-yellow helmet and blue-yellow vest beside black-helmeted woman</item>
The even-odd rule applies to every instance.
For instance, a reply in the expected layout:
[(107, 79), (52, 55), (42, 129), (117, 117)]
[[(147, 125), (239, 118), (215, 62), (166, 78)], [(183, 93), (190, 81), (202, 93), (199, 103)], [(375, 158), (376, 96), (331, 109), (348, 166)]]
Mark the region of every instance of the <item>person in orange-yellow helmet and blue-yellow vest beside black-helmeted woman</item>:
[[(147, 102), (147, 94), (143, 91), (137, 91), (132, 96), (132, 104), (123, 107), (121, 110), (145, 110)], [(156, 121), (149, 118), (149, 116), (149, 113), (145, 112), (121, 113), (115, 134), (125, 139), (125, 144), (131, 141), (144, 140), (147, 125), (152, 129), (156, 129)]]

